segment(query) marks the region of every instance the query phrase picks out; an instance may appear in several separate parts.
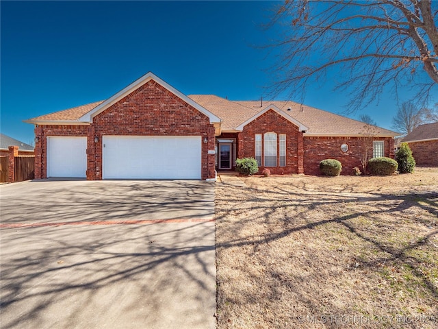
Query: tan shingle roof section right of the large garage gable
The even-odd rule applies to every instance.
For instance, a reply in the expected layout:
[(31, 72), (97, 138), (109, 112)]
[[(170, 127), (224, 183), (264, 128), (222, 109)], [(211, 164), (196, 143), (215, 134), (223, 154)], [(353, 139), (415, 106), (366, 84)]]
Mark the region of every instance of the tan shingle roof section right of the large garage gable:
[[(364, 123), (341, 115), (311, 108), (294, 101), (229, 101), (215, 95), (189, 95), (201, 106), (222, 119), (222, 130), (233, 130), (244, 121), (255, 116), (270, 104), (283, 110), (303, 125), (309, 127), (307, 134), (360, 135)], [(287, 110), (290, 108), (290, 110)], [(380, 136), (397, 136), (396, 132), (381, 127), (375, 128)]]

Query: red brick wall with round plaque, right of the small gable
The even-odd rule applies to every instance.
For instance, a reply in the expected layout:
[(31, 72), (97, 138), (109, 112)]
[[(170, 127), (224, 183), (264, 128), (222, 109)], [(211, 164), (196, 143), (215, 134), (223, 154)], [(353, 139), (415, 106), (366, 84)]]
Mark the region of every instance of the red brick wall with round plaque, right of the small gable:
[[(374, 138), (374, 141), (385, 141), (385, 156), (394, 157), (394, 138)], [(341, 150), (344, 143), (348, 145), (346, 152)], [(366, 145), (359, 137), (304, 136), (304, 172), (319, 175), (321, 160), (336, 159), (342, 163), (342, 175), (351, 175), (354, 167), (362, 170), (361, 157)], [(372, 143), (368, 143), (368, 154), (372, 158)]]

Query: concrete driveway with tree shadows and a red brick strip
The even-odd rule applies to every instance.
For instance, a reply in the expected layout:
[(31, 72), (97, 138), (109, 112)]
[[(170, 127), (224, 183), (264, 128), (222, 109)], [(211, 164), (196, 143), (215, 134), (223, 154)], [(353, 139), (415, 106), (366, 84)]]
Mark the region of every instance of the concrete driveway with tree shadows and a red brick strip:
[(215, 328), (214, 184), (0, 186), (1, 328)]

